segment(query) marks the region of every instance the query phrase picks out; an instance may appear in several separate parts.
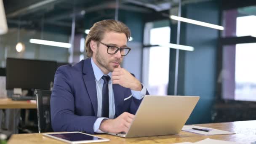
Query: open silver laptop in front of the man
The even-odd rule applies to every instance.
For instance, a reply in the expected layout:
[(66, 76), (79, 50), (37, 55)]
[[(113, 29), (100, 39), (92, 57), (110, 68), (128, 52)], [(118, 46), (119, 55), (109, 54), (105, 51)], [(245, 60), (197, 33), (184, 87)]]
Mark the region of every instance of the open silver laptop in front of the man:
[(146, 95), (128, 132), (108, 134), (125, 138), (177, 134), (199, 99), (199, 96)]

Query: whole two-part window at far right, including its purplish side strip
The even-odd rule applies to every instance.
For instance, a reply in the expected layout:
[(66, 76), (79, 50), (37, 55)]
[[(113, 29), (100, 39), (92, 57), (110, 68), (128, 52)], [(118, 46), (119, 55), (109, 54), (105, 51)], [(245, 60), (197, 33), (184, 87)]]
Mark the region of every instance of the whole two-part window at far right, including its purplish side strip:
[[(241, 11), (238, 11), (241, 13)], [(234, 11), (232, 12), (234, 14)], [(237, 12), (236, 12), (237, 13)], [(227, 14), (227, 13), (226, 13)], [(256, 36), (256, 16), (236, 17), (235, 36)], [(230, 30), (230, 29), (229, 29)], [(232, 34), (226, 30), (226, 34)], [(229, 35), (230, 36), (230, 35)], [(225, 38), (223, 38), (225, 39)], [(238, 39), (237, 39), (238, 40)], [(256, 41), (223, 46), (222, 97), (238, 101), (256, 101)]]

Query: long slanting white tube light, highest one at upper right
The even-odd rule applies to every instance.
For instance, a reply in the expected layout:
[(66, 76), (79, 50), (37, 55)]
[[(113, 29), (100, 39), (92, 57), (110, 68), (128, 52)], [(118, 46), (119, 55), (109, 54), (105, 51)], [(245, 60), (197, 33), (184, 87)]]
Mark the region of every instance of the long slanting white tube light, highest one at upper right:
[(193, 19), (187, 19), (187, 18), (183, 18), (183, 17), (179, 17), (179, 16), (173, 16), (173, 15), (171, 15), (170, 18), (174, 19), (176, 21), (183, 21), (183, 22), (187, 22), (187, 23), (190, 23), (190, 24), (196, 24), (196, 25), (200, 25), (200, 26), (204, 26), (204, 27), (210, 27), (210, 28), (213, 28), (213, 29), (224, 30), (224, 27), (222, 27), (222, 26), (218, 26), (218, 25), (215, 25), (215, 24), (209, 24), (209, 23), (202, 22), (202, 21), (196, 21), (196, 20), (193, 20)]

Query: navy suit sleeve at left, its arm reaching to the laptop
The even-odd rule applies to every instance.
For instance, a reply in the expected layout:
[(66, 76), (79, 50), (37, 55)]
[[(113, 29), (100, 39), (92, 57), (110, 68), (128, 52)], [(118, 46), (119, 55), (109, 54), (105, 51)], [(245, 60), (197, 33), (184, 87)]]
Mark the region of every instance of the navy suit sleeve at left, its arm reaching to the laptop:
[(54, 77), (51, 95), (53, 131), (84, 131), (93, 134), (93, 124), (98, 117), (75, 115), (73, 82), (69, 68), (59, 67)]

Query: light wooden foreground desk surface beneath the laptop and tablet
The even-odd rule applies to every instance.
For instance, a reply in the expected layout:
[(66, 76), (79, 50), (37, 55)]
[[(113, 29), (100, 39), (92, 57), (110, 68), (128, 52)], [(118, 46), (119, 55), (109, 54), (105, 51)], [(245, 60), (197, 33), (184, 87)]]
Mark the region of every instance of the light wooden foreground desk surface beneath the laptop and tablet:
[[(101, 134), (98, 136), (110, 139), (109, 144), (151, 144), (151, 143), (161, 143), (161, 144), (171, 144), (178, 142), (196, 142), (206, 138), (219, 139), (226, 141), (235, 141), (241, 144), (251, 144), (251, 142), (256, 141), (256, 120), (251, 121), (240, 121), (240, 122), (229, 122), (229, 123), (210, 123), (210, 124), (200, 124), (199, 126), (205, 126), (209, 128), (217, 128), (224, 131), (232, 131), (236, 134), (231, 135), (215, 135), (215, 136), (205, 136), (195, 133), (189, 133), (181, 131), (176, 135), (169, 136), (150, 136), (141, 138), (120, 138), (117, 136), (111, 136), (107, 134)], [(66, 144), (64, 142), (51, 139), (42, 136), (41, 133), (30, 133), (30, 134), (14, 134), (9, 139), (8, 144)], [(104, 142), (102, 142), (103, 144)]]

